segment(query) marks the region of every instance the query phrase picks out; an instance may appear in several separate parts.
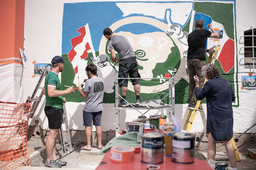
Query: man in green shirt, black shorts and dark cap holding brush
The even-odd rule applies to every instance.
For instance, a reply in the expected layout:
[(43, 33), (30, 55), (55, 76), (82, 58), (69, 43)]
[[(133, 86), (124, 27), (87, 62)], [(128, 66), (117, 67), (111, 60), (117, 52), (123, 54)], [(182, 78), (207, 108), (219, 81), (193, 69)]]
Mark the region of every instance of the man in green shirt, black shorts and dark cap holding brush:
[(63, 115), (63, 103), (66, 103), (66, 99), (62, 97), (64, 94), (70, 94), (75, 91), (74, 87), (69, 87), (66, 90), (61, 91), (61, 84), (58, 74), (63, 71), (64, 63), (61, 56), (53, 57), (51, 64), (53, 69), (49, 71), (47, 77), (45, 77), (45, 84), (43, 94), (45, 95), (45, 107), (44, 112), (48, 119), (49, 135), (46, 140), (46, 155), (47, 160), (45, 166), (50, 168), (61, 168), (62, 165), (66, 165), (67, 162), (63, 162), (56, 157), (56, 137), (59, 134), (59, 129), (62, 124)]

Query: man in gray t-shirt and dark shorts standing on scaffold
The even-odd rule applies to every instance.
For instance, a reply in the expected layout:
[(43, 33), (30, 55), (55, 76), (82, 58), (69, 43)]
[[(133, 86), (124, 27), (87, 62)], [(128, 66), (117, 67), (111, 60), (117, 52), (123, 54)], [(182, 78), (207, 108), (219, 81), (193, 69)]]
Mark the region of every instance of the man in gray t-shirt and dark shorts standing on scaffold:
[[(115, 64), (119, 62), (118, 78), (140, 78), (138, 71), (138, 62), (136, 55), (133, 51), (132, 45), (128, 39), (124, 36), (115, 35), (110, 28), (106, 28), (103, 31), (103, 35), (110, 41), (109, 51), (111, 54), (111, 60)], [(119, 58), (116, 58), (116, 52)], [(140, 100), (140, 83), (139, 79), (131, 79), (134, 91), (136, 94), (136, 105), (141, 104)], [(122, 98), (126, 100), (126, 93), (128, 90), (128, 79), (119, 79), (118, 85), (121, 87)], [(127, 106), (126, 101), (121, 100), (119, 105)]]

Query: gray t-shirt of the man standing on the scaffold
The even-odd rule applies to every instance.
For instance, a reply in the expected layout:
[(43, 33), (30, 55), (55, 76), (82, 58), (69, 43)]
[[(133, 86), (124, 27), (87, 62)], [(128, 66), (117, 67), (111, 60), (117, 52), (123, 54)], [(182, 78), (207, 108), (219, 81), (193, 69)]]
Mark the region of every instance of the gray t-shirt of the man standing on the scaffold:
[(114, 35), (109, 42), (110, 50), (115, 50), (118, 53), (120, 61), (129, 57), (136, 57), (132, 45), (124, 36)]

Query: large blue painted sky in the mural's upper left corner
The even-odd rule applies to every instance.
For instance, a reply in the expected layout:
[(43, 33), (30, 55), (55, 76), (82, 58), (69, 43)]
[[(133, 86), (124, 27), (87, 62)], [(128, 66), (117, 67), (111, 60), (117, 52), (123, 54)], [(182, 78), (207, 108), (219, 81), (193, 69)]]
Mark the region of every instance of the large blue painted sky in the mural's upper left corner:
[[(115, 12), (111, 12), (115, 11)], [(62, 54), (71, 49), (71, 39), (80, 35), (77, 30), (87, 23), (95, 51), (99, 50), (99, 42), (103, 30), (116, 21), (123, 19), (123, 12), (115, 2), (82, 2), (64, 4), (62, 21)]]

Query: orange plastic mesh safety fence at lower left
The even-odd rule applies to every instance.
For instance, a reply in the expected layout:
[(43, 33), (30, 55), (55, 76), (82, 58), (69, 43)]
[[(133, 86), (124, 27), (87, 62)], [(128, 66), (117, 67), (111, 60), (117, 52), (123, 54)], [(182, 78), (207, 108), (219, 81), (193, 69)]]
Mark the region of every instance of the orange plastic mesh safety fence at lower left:
[(30, 103), (0, 101), (0, 169), (30, 166), (28, 120)]

